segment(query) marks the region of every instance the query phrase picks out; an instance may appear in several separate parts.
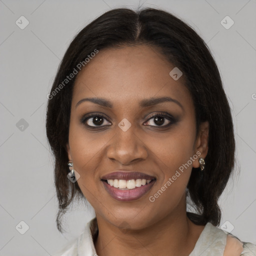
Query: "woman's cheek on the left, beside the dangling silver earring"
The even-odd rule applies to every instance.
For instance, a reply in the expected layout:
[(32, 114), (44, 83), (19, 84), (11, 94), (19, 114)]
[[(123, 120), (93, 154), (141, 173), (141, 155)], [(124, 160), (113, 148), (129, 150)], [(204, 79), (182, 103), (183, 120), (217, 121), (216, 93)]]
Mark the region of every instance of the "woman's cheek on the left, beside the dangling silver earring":
[[(69, 145), (74, 169), (79, 173), (77, 179), (84, 197), (97, 207), (99, 198), (99, 169), (106, 159), (106, 144), (114, 134), (88, 132), (82, 124), (70, 120)], [(103, 165), (104, 166), (104, 165)], [(95, 205), (96, 202), (96, 205)]]

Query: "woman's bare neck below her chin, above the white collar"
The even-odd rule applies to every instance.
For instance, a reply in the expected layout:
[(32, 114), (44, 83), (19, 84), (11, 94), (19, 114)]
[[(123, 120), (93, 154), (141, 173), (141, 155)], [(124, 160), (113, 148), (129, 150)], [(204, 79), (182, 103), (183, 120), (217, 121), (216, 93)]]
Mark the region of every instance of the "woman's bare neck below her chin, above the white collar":
[(204, 226), (193, 224), (186, 211), (182, 212), (169, 214), (143, 229), (125, 231), (97, 216), (97, 255), (188, 256)]

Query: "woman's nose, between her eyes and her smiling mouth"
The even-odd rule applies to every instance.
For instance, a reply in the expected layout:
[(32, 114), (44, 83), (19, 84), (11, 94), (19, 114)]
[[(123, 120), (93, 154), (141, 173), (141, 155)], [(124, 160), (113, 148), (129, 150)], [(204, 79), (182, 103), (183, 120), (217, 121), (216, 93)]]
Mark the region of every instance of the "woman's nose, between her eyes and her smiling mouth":
[(121, 130), (118, 126), (116, 129), (116, 134), (110, 140), (111, 144), (107, 148), (107, 157), (123, 165), (146, 159), (146, 145), (139, 135), (135, 134), (132, 125), (126, 131)]

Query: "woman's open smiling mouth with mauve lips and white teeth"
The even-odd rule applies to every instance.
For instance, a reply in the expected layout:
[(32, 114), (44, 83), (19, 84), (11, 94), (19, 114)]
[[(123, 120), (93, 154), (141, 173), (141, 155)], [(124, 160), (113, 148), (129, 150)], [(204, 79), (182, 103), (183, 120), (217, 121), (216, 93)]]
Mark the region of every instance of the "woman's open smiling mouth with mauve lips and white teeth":
[(100, 179), (104, 188), (114, 199), (134, 201), (146, 194), (156, 178), (142, 172), (112, 172)]

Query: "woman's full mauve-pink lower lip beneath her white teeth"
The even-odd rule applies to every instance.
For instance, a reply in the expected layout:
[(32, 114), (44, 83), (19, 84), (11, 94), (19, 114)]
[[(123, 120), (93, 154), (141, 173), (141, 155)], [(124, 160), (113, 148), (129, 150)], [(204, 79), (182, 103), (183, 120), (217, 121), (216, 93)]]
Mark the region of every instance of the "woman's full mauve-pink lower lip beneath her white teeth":
[(154, 185), (155, 180), (150, 183), (135, 187), (133, 189), (118, 189), (114, 186), (109, 185), (107, 182), (102, 181), (106, 191), (116, 200), (119, 201), (134, 201), (146, 194)]

